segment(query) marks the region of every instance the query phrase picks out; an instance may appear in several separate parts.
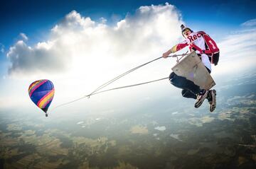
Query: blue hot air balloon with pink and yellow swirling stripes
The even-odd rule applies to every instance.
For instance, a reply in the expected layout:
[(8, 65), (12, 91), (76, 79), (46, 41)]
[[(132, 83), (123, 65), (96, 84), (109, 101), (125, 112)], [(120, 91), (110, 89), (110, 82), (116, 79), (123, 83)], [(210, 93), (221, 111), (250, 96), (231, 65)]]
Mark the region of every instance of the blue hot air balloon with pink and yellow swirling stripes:
[(54, 95), (53, 82), (47, 79), (34, 81), (28, 88), (28, 95), (33, 103), (41, 108), (46, 113), (46, 117), (48, 117), (47, 110)]

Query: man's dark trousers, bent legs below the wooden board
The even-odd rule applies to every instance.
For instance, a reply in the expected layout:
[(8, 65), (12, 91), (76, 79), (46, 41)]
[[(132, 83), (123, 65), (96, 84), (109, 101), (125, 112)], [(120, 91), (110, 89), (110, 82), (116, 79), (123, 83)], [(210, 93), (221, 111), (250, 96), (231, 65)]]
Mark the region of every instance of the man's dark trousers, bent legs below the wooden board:
[[(210, 73), (210, 70), (208, 68), (206, 69)], [(201, 91), (201, 88), (197, 86), (195, 83), (193, 83), (193, 81), (189, 81), (188, 79), (182, 76), (178, 76), (174, 72), (171, 72), (169, 80), (172, 85), (182, 89), (181, 94), (185, 98), (196, 99), (196, 95)]]

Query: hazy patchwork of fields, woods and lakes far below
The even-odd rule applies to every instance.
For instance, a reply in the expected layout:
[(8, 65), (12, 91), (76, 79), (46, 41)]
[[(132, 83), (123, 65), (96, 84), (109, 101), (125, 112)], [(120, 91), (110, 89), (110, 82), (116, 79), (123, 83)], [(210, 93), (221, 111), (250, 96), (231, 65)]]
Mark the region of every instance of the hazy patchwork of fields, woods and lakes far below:
[[(239, 78), (248, 77), (229, 81)], [(226, 102), (214, 113), (208, 103), (201, 110), (85, 113), (72, 120), (1, 111), (1, 168), (254, 168), (256, 74), (250, 79), (226, 88), (218, 96)]]

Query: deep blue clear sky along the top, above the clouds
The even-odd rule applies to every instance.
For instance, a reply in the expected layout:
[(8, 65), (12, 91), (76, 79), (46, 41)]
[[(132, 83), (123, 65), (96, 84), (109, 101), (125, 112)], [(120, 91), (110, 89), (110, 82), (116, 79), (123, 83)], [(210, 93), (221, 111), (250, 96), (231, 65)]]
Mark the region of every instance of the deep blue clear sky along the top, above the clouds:
[[(214, 33), (236, 28), (240, 23), (256, 17), (256, 1), (1, 1), (0, 42), (7, 49), (19, 33), (26, 33), (33, 42), (41, 40), (43, 33), (60, 21), (70, 11), (78, 11), (92, 19), (101, 17), (108, 21), (124, 18), (139, 6), (169, 2), (181, 11), (183, 20)], [(111, 19), (112, 18), (112, 19)], [(214, 27), (214, 28), (213, 28)]]

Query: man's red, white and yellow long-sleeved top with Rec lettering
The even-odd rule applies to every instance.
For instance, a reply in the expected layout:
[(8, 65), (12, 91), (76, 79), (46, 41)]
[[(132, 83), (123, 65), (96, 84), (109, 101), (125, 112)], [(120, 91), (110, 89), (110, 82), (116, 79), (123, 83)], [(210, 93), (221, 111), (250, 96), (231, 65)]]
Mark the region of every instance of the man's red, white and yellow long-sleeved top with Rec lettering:
[(186, 46), (188, 46), (190, 50), (194, 49), (196, 50), (196, 53), (201, 54), (201, 60), (203, 64), (211, 71), (210, 60), (208, 58), (208, 55), (206, 54), (206, 42), (203, 38), (202, 32), (191, 33), (191, 35), (189, 35), (186, 40), (172, 47), (171, 52), (177, 52), (178, 50), (183, 49)]

